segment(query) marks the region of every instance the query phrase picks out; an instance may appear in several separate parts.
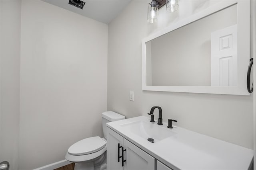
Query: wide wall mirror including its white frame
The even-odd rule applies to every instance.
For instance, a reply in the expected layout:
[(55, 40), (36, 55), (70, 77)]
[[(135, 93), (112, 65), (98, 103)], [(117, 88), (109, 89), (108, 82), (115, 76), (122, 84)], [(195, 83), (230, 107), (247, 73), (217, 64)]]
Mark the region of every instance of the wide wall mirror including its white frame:
[(250, 12), (241, 13), (250, 4), (245, 4), (220, 4), (211, 14), (144, 39), (142, 89), (248, 95), (250, 46), (244, 49), (242, 42), (250, 43), (250, 33), (243, 32), (250, 29)]

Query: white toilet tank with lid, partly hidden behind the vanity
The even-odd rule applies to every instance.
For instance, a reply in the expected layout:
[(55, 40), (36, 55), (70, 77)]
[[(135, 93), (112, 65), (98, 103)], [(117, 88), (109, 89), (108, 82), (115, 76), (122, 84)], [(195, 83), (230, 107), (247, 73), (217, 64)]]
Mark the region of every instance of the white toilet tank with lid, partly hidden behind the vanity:
[(116, 113), (114, 111), (105, 111), (102, 113), (102, 128), (103, 128), (103, 134), (104, 138), (107, 139), (107, 126), (106, 123), (111, 121), (118, 121), (125, 119), (125, 116), (120, 115), (119, 113)]

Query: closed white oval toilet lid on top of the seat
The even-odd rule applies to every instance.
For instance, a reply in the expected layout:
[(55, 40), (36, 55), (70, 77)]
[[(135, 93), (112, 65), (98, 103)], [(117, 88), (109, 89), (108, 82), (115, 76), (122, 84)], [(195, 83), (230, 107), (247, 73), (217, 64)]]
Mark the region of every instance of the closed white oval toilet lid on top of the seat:
[(106, 146), (106, 141), (100, 137), (89, 137), (74, 143), (68, 149), (68, 153), (72, 155), (84, 155), (97, 152)]

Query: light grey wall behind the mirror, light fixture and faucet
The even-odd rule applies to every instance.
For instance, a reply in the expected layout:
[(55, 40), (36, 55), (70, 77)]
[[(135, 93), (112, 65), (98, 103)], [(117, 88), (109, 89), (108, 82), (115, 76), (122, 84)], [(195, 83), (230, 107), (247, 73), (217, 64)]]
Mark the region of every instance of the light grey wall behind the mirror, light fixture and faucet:
[(252, 96), (142, 91), (142, 39), (218, 1), (181, 0), (178, 12), (161, 8), (154, 24), (147, 23), (148, 2), (133, 0), (108, 25), (108, 110), (129, 118), (161, 106), (164, 122), (176, 119), (180, 127), (252, 149)]

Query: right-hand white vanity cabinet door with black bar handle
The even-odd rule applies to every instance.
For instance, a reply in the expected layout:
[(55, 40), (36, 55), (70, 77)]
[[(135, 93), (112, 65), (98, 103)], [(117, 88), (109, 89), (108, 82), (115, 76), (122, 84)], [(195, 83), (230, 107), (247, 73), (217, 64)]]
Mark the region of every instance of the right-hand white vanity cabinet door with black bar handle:
[(154, 170), (155, 159), (124, 139), (124, 170)]

